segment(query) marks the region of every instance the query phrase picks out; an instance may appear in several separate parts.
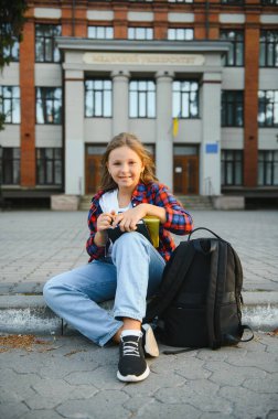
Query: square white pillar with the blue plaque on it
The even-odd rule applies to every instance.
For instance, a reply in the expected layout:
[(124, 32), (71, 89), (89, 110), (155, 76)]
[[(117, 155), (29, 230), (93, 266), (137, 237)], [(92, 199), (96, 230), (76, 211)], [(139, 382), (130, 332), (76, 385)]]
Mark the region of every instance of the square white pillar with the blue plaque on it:
[(204, 73), (203, 136), (200, 149), (200, 193), (221, 194), (221, 73)]

